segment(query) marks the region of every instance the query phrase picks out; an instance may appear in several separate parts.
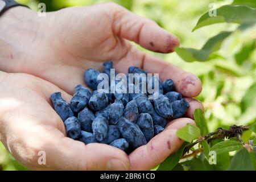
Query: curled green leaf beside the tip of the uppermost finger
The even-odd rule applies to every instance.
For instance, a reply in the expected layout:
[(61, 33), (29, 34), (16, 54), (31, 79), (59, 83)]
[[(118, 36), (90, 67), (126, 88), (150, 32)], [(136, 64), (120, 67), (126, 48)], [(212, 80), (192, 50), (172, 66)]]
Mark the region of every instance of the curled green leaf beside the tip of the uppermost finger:
[(221, 32), (220, 34), (213, 36), (201, 49), (177, 47), (175, 48), (175, 52), (187, 62), (207, 61), (213, 52), (220, 49), (222, 42), (230, 34), (232, 34), (232, 32)]

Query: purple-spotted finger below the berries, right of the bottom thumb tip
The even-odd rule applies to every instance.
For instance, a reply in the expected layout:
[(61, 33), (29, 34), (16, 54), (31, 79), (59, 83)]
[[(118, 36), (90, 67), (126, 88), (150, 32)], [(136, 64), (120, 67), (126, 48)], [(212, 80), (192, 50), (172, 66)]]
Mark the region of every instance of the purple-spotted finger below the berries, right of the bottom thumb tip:
[(175, 119), (175, 121), (172, 121), (169, 127), (152, 138), (145, 146), (137, 148), (129, 155), (131, 170), (152, 169), (179, 149), (183, 140), (176, 136), (176, 131), (193, 121), (189, 118)]

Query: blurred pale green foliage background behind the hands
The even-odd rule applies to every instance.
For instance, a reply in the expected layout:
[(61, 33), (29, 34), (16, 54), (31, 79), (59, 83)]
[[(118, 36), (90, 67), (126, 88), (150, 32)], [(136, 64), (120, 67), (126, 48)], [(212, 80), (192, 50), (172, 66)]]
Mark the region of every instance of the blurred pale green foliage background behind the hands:
[[(19, 0), (32, 9), (46, 3), (47, 11), (69, 6), (88, 6), (106, 2), (98, 0)], [(210, 3), (217, 7), (233, 1), (211, 0), (115, 0), (135, 14), (150, 18), (161, 27), (179, 36), (182, 47), (201, 48), (220, 31), (236, 30), (238, 24), (214, 24), (192, 32), (199, 17), (207, 12)], [(256, 118), (256, 31), (255, 28), (235, 32), (221, 45), (218, 56), (205, 63), (186, 63), (176, 53), (152, 53), (195, 73), (203, 82), (203, 92), (197, 97), (205, 106), (205, 117), (210, 131), (220, 126), (248, 125)], [(142, 48), (141, 48), (142, 49)], [(147, 51), (148, 52), (148, 51)], [(151, 53), (151, 52), (150, 52)], [(250, 97), (248, 97), (250, 96)], [(248, 99), (249, 98), (249, 99)], [(25, 169), (9, 155), (0, 143), (0, 170)]]

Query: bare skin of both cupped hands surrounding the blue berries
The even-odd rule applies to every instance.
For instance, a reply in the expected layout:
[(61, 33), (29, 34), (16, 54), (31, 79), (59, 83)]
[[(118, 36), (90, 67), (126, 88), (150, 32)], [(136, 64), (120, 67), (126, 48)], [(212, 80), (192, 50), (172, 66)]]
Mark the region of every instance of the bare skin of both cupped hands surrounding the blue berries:
[[(193, 110), (203, 109), (192, 99), (201, 92), (199, 78), (129, 42), (170, 53), (179, 40), (155, 22), (114, 3), (71, 7), (46, 17), (15, 7), (0, 17), (0, 24), (0, 69), (4, 71), (0, 72), (0, 137), (7, 150), (30, 169), (151, 169), (181, 146), (176, 130), (193, 124)], [(106, 144), (85, 146), (67, 138), (49, 95), (61, 91), (70, 101), (75, 86), (84, 84), (85, 69), (101, 69), (106, 60), (113, 60), (117, 72), (126, 73), (135, 65), (160, 73), (162, 80), (174, 80), (175, 89), (189, 101), (187, 118), (168, 123), (162, 133), (129, 156)], [(46, 165), (38, 164), (39, 151), (46, 151)]]

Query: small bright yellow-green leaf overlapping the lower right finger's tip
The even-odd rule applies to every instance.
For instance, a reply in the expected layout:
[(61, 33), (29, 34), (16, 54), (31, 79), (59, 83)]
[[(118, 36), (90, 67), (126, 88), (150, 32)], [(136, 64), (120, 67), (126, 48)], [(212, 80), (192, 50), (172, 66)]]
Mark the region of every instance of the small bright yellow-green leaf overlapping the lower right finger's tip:
[(201, 136), (200, 129), (198, 127), (192, 126), (190, 124), (187, 124), (185, 127), (177, 130), (176, 135), (180, 139), (183, 139), (189, 143), (191, 143), (193, 140), (195, 140)]

